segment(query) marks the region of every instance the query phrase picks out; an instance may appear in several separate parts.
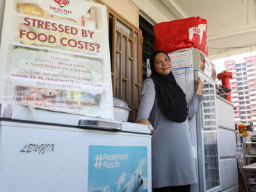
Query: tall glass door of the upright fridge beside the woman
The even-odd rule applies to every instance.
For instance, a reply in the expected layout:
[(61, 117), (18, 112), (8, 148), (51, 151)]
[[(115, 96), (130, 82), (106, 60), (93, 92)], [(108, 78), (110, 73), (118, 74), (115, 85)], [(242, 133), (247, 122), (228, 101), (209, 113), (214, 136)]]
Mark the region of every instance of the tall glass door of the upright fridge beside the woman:
[(221, 181), (215, 84), (200, 71), (194, 71), (194, 74), (195, 79), (200, 77), (205, 82), (203, 101), (196, 115), (200, 191), (219, 191)]

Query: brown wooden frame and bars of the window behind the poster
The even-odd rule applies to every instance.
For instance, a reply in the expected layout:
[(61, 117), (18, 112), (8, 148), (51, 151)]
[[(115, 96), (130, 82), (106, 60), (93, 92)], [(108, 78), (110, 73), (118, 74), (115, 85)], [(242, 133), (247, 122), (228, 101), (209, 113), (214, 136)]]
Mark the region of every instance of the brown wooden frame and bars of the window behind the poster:
[[(122, 82), (125, 81), (126, 82), (126, 89), (125, 89), (125, 102), (128, 104), (129, 109), (131, 109), (130, 115), (129, 115), (129, 121), (131, 122), (135, 122), (136, 118), (137, 118), (137, 113), (138, 113), (138, 105), (140, 103), (140, 98), (141, 98), (141, 87), (142, 87), (142, 81), (143, 81), (143, 66), (142, 66), (142, 44), (143, 44), (143, 37), (142, 37), (142, 33), (141, 30), (134, 26), (134, 24), (131, 24), (130, 21), (128, 21), (127, 19), (125, 19), (125, 17), (122, 17), (122, 15), (120, 15), (118, 12), (116, 12), (115, 10), (113, 10), (113, 8), (111, 8), (110, 6), (108, 6), (106, 3), (104, 3), (104, 1), (102, 0), (94, 0), (96, 3), (101, 3), (104, 4), (107, 7), (107, 16), (108, 17), (108, 21), (109, 18), (112, 17), (113, 19), (113, 28), (112, 28), (112, 34), (113, 34), (113, 40), (112, 40), (112, 53), (111, 53), (111, 78), (112, 78), (112, 88), (113, 88), (113, 98), (120, 98), (122, 99)], [(131, 30), (131, 37), (128, 37), (127, 35), (125, 35), (124, 33), (122, 33), (122, 31), (118, 30), (117, 28), (117, 21), (119, 21), (121, 24), (123, 24), (124, 26), (126, 26), (127, 28), (129, 28)], [(111, 30), (111, 29), (109, 29)], [(116, 43), (117, 43), (117, 33), (121, 33), (121, 37), (120, 37), (120, 48), (121, 50), (117, 50), (116, 47)], [(135, 42), (135, 34), (137, 34), (137, 44)], [(127, 49), (126, 49), (126, 76), (122, 77), (122, 37), (125, 36), (126, 37), (126, 45), (127, 45)], [(131, 41), (132, 46), (131, 46), (131, 55), (129, 56), (129, 41)], [(111, 42), (109, 42), (111, 44)], [(135, 54), (135, 46), (136, 47), (136, 51), (137, 53)], [(117, 60), (116, 57), (117, 55), (120, 55), (120, 70), (117, 71)], [(135, 55), (137, 55), (137, 68), (135, 69), (135, 64), (134, 64), (134, 60), (135, 60)], [(129, 69), (129, 60), (131, 60), (131, 69)], [(131, 71), (131, 79), (129, 79), (129, 70)], [(137, 70), (137, 80), (135, 80), (135, 70)], [(119, 72), (119, 73), (118, 73)], [(118, 76), (118, 85), (119, 87), (119, 91), (118, 93), (116, 93), (116, 82), (117, 82), (117, 76)], [(129, 89), (129, 85), (128, 83), (131, 83), (131, 90)], [(131, 95), (129, 95), (128, 93), (131, 93)], [(131, 96), (131, 103), (129, 102), (129, 96)], [(130, 105), (129, 105), (130, 103)]]

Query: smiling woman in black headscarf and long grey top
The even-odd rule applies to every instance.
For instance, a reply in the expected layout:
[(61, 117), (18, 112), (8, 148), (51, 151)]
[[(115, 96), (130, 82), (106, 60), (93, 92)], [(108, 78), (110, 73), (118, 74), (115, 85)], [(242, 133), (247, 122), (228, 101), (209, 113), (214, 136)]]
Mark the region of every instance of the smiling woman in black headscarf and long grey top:
[(150, 56), (152, 75), (143, 82), (137, 122), (152, 125), (152, 187), (155, 191), (190, 191), (197, 182), (188, 119), (199, 108), (204, 83), (195, 80), (189, 104), (177, 85), (164, 51)]

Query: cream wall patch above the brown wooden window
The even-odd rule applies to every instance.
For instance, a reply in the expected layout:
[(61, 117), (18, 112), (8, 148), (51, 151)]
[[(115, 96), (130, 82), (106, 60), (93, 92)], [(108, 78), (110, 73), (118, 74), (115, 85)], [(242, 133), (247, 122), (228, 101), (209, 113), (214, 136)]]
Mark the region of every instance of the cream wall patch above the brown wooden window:
[(103, 0), (108, 6), (113, 8), (122, 17), (125, 17), (131, 24), (139, 27), (139, 10), (133, 3), (129, 0)]

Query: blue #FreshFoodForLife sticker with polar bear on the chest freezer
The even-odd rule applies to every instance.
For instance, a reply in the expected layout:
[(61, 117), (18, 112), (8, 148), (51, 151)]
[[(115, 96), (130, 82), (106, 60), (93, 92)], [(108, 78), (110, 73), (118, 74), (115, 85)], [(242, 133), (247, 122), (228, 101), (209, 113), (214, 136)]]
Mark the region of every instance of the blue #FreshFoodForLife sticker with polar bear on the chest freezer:
[(147, 147), (89, 146), (88, 192), (147, 191)]

